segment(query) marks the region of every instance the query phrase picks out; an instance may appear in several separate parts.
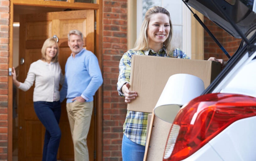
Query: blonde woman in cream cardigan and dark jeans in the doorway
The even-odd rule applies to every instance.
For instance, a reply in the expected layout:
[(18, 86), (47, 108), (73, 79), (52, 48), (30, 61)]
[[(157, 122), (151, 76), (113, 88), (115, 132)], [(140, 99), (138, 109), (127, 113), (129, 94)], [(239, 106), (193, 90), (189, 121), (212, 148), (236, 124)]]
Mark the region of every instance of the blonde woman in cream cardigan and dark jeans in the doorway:
[(59, 101), (59, 84), (64, 83), (64, 76), (58, 63), (59, 47), (53, 38), (48, 38), (42, 46), (42, 58), (30, 65), (24, 83), (16, 79), (13, 67), (14, 85), (27, 91), (34, 84), (34, 109), (45, 131), (42, 161), (56, 161), (61, 137), (59, 119), (61, 105)]

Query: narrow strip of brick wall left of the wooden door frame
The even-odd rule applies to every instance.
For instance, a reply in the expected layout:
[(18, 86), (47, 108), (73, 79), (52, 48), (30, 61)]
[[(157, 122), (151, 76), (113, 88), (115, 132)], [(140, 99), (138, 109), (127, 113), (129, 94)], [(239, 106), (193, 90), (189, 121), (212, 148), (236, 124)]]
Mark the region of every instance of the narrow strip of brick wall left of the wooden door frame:
[(0, 160), (7, 160), (9, 0), (0, 0)]

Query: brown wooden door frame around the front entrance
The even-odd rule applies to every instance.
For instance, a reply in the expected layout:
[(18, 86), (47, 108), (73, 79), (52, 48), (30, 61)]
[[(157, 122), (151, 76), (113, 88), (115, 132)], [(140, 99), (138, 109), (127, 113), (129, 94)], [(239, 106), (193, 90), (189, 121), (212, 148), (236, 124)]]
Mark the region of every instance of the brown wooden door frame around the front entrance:
[[(62, 1), (44, 1), (44, 0), (10, 0), (10, 19), (9, 19), (9, 63), (8, 68), (13, 66), (13, 21), (14, 21), (14, 5), (27, 5), (27, 6), (42, 6), (42, 7), (53, 7), (53, 8), (70, 8), (70, 9), (93, 9), (96, 11), (96, 31), (95, 31), (95, 55), (98, 58), (99, 66), (103, 71), (103, 56), (102, 56), (102, 13), (103, 13), (103, 2), (97, 0), (97, 3), (74, 3), (74, 0), (68, 0), (68, 2)], [(12, 143), (13, 143), (13, 80), (12, 77), (8, 77), (8, 148), (7, 158), (12, 160)], [(101, 86), (95, 94), (96, 104), (96, 131), (95, 131), (95, 146), (96, 146), (96, 161), (101, 161), (103, 158), (103, 131), (102, 131), (102, 116), (103, 116), (103, 87)]]

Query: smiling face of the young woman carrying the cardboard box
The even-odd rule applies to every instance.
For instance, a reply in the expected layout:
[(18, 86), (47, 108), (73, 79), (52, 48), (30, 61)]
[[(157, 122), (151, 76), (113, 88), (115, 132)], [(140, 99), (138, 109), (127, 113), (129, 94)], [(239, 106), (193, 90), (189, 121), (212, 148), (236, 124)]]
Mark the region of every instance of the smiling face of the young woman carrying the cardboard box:
[(169, 17), (163, 13), (153, 14), (149, 20), (147, 36), (149, 46), (159, 45), (167, 39), (170, 33)]

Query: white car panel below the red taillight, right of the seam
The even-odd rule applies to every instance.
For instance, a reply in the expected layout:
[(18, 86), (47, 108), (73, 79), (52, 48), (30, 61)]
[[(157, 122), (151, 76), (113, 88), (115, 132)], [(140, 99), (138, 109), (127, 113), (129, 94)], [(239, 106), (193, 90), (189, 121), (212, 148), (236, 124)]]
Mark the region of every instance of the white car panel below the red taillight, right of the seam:
[(256, 116), (241, 119), (214, 137), (209, 144), (224, 161), (255, 161)]

